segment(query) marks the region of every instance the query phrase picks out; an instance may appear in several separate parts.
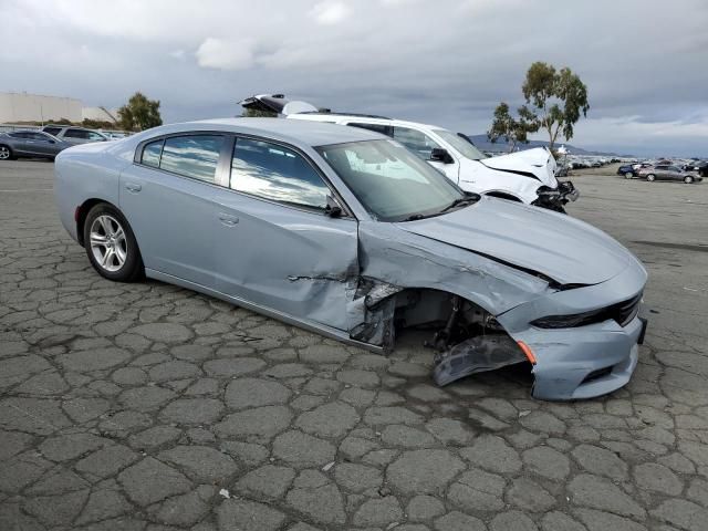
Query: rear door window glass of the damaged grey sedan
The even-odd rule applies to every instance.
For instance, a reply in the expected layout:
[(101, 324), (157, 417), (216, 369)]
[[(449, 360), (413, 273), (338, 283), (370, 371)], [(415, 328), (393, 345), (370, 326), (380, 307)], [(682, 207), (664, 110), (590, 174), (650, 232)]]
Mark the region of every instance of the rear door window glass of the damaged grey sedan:
[(174, 136), (165, 139), (160, 169), (206, 183), (216, 183), (219, 153), (223, 145), (220, 135)]

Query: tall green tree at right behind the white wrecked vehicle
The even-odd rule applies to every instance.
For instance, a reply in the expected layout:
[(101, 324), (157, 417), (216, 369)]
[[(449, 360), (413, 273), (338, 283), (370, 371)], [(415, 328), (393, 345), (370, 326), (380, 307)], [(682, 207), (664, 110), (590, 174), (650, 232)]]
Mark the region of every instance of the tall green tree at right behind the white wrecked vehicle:
[[(570, 140), (581, 114), (587, 116), (590, 110), (587, 86), (568, 66), (555, 70), (551, 64), (537, 61), (527, 72), (521, 92), (527, 103), (519, 107), (519, 118), (511, 118), (509, 106), (503, 102), (499, 104), (494, 110), (490, 138), (500, 131), (503, 134), (499, 136), (504, 137), (506, 132), (516, 132), (519, 135), (517, 142), (524, 142), (525, 134), (544, 129), (549, 135), (549, 149), (553, 150), (559, 134)], [(506, 113), (502, 105), (506, 105)], [(498, 117), (500, 123), (494, 127)]]

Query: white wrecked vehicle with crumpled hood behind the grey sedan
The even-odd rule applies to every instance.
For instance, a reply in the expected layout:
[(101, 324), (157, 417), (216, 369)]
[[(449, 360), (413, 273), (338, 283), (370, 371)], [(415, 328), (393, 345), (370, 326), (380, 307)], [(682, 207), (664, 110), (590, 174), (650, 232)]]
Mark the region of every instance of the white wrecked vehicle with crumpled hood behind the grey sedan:
[(467, 191), (535, 205), (556, 211), (579, 197), (571, 181), (555, 178), (555, 158), (545, 148), (488, 157), (462, 134), (436, 125), (366, 114), (320, 113), (305, 102), (261, 94), (240, 102), (246, 108), (288, 118), (350, 125), (384, 134), (413, 150)]

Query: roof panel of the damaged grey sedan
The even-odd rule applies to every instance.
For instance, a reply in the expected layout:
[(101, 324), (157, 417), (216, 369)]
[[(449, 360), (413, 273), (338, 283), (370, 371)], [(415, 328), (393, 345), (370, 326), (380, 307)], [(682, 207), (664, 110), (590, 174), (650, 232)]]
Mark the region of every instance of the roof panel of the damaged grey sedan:
[(290, 144), (305, 144), (312, 147), (386, 138), (378, 133), (356, 127), (284, 118), (218, 118), (185, 122), (149, 129), (150, 135), (145, 135), (143, 138), (157, 134), (200, 129), (262, 135)]

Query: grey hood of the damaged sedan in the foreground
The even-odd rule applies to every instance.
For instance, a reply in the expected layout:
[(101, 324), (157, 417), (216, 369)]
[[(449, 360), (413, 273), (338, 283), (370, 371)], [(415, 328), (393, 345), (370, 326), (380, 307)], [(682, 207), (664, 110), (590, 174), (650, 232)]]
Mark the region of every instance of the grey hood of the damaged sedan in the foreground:
[(396, 226), (561, 284), (597, 284), (632, 263), (642, 267), (621, 243), (584, 221), (503, 199), (482, 197), (450, 214)]

